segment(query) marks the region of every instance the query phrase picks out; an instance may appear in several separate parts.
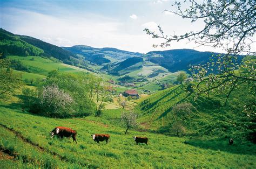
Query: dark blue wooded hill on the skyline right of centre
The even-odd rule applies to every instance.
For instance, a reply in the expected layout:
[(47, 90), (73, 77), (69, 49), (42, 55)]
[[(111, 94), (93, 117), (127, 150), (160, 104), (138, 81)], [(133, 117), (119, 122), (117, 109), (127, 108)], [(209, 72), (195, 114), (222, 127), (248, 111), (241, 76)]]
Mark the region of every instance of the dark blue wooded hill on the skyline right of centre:
[(168, 51), (152, 51), (147, 53), (147, 58), (155, 63), (168, 69), (170, 72), (187, 71), (190, 65), (206, 63), (213, 52), (199, 52), (196, 50), (180, 49)]

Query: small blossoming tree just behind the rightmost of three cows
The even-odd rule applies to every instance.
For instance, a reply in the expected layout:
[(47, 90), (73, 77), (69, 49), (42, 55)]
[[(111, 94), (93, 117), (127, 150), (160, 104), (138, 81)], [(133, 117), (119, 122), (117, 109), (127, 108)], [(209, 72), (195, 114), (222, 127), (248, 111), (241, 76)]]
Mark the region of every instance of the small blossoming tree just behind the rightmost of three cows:
[(137, 123), (137, 118), (138, 118), (138, 115), (133, 112), (133, 111), (124, 111), (122, 112), (121, 114), (121, 122), (123, 123), (123, 125), (126, 126), (126, 131), (125, 131), (125, 135), (128, 131), (129, 128), (133, 128), (133, 127), (136, 127), (138, 125)]

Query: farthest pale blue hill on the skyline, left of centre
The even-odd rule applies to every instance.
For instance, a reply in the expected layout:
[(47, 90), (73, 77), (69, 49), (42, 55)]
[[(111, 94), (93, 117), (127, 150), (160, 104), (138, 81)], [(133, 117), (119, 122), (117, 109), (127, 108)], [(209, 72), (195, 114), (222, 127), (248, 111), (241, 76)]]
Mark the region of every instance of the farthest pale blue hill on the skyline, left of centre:
[(132, 57), (139, 57), (142, 54), (129, 51), (118, 50), (117, 48), (94, 48), (85, 45), (76, 45), (72, 47), (62, 47), (74, 54), (82, 55), (85, 60), (92, 64), (102, 65), (109, 62), (123, 61)]

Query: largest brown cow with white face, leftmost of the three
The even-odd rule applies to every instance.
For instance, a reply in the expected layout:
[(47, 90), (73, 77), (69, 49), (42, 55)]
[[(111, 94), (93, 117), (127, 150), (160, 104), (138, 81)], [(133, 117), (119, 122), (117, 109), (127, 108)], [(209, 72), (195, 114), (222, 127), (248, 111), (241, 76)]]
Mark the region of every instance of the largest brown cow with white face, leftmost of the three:
[(60, 138), (63, 138), (63, 137), (72, 137), (73, 138), (73, 142), (75, 141), (77, 143), (77, 132), (76, 130), (72, 130), (70, 128), (66, 128), (66, 127), (63, 127), (63, 126), (57, 126), (56, 128), (54, 128), (52, 131), (51, 131), (51, 137), (53, 137), (54, 135), (57, 135), (59, 136)]

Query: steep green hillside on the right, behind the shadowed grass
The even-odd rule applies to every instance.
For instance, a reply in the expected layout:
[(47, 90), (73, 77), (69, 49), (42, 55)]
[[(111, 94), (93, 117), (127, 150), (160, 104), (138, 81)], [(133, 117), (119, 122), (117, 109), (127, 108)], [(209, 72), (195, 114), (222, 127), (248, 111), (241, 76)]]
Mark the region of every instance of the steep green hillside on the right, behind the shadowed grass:
[(253, 96), (244, 93), (241, 87), (231, 94), (226, 107), (221, 106), (225, 101), (222, 97), (211, 94), (208, 99), (207, 96), (201, 95), (194, 100), (194, 95), (186, 93), (186, 87), (179, 85), (152, 94), (140, 102), (136, 110), (140, 112), (140, 122), (145, 129), (169, 133), (174, 122), (172, 107), (178, 103), (189, 102), (195, 109), (193, 116), (183, 121), (188, 135), (234, 137), (237, 132), (234, 124), (246, 121), (246, 114), (239, 109), (244, 105), (241, 101), (246, 102)]

